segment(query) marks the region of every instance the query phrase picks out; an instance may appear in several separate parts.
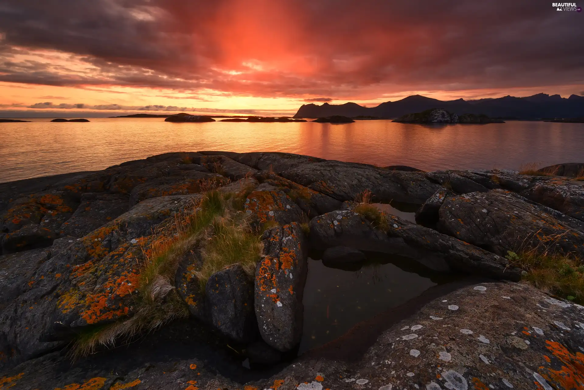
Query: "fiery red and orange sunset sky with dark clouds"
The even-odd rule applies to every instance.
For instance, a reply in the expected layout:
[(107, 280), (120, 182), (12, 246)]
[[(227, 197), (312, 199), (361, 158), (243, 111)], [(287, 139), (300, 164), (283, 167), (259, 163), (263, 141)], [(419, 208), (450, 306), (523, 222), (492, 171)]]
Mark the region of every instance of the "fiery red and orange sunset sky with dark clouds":
[(0, 116), (584, 95), (582, 37), (541, 0), (0, 0)]

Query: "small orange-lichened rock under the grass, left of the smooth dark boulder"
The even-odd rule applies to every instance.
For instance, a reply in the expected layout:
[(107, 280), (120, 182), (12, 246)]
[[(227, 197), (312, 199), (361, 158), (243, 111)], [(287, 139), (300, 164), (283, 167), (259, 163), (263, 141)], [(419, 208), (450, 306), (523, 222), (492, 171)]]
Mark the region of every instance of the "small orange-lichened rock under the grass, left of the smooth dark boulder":
[(208, 322), (205, 294), (195, 272), (203, 265), (200, 253), (196, 247), (187, 250), (180, 258), (175, 275), (175, 287), (180, 298), (185, 301), (189, 313), (194, 318)]

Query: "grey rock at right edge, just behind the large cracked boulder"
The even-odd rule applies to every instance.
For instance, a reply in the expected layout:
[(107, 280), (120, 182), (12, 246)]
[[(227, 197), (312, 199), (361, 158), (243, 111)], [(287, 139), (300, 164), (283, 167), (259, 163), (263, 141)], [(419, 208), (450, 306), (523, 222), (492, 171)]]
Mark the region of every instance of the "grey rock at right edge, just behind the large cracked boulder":
[(584, 181), (560, 178), (540, 181), (521, 195), (584, 221)]

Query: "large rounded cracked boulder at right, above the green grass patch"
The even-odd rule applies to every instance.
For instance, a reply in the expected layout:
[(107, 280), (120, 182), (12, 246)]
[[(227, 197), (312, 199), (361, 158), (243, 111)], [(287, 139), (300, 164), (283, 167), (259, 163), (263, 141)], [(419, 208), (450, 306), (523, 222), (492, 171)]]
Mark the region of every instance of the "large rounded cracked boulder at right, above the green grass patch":
[(439, 229), (499, 256), (538, 245), (541, 251), (550, 247), (584, 255), (581, 221), (502, 189), (446, 198)]

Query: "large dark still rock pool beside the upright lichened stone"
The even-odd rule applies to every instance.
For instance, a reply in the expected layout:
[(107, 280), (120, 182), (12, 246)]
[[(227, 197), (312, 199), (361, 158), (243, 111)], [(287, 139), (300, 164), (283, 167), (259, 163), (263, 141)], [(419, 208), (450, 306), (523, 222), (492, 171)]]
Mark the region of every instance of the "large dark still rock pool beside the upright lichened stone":
[(357, 323), (456, 278), (429, 271), (413, 260), (375, 253), (367, 253), (367, 258), (358, 270), (359, 265), (342, 270), (308, 258), (298, 354), (335, 340)]

